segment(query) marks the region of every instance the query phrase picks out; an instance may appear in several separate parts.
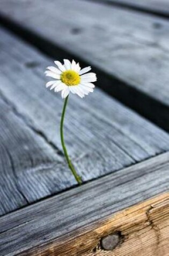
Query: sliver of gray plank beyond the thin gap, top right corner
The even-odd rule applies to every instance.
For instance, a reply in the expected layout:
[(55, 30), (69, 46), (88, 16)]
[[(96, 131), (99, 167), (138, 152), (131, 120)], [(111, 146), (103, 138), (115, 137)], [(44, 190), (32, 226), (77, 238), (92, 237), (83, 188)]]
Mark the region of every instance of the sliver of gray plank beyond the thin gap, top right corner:
[(92, 0), (100, 3), (109, 3), (123, 8), (130, 8), (143, 12), (150, 12), (162, 17), (169, 17), (168, 0)]

